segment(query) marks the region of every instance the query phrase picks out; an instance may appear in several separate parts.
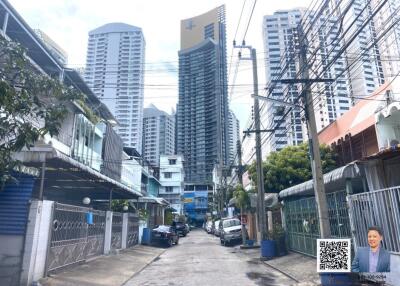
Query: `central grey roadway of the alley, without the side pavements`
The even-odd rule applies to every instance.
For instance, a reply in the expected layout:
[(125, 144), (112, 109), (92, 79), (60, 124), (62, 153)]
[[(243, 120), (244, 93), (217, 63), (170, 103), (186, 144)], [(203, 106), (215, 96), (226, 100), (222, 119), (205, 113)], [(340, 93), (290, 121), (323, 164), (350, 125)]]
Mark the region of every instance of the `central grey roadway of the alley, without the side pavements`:
[(243, 254), (220, 245), (204, 230), (191, 231), (132, 277), (125, 286), (294, 285), (295, 282), (262, 263), (259, 255)]

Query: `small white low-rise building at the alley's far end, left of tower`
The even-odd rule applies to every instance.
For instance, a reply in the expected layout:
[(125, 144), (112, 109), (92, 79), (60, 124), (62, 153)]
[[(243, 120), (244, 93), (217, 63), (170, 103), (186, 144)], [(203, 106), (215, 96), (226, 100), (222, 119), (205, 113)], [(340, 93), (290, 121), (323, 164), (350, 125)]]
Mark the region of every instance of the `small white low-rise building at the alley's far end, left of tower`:
[(177, 213), (183, 214), (184, 192), (183, 157), (180, 155), (160, 156), (160, 189), (158, 196), (167, 200)]

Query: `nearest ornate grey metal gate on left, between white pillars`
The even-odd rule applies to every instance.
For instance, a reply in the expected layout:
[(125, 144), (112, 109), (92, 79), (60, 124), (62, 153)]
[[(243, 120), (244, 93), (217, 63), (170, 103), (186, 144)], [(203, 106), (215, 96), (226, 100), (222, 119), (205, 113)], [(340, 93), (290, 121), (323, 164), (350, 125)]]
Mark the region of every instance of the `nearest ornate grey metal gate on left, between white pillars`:
[[(88, 225), (86, 214), (93, 214)], [(54, 203), (50, 225), (47, 272), (101, 255), (104, 246), (106, 214), (89, 208)]]

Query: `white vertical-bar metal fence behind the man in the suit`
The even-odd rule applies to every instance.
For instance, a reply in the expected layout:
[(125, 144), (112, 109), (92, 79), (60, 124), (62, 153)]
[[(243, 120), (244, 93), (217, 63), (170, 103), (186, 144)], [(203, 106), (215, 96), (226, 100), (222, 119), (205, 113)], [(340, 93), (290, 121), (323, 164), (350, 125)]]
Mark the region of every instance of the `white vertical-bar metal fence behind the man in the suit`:
[(370, 226), (383, 229), (383, 247), (400, 254), (400, 186), (348, 196), (356, 247), (368, 246)]

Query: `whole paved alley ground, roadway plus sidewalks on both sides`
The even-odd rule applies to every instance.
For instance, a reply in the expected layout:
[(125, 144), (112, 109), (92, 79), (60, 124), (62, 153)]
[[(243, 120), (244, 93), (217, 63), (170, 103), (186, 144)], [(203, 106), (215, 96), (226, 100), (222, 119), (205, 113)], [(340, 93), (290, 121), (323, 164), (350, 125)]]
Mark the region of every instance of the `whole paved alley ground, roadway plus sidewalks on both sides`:
[(299, 254), (260, 261), (260, 249), (223, 247), (194, 230), (169, 249), (139, 245), (101, 256), (40, 281), (46, 286), (298, 285), (315, 286), (315, 259)]

